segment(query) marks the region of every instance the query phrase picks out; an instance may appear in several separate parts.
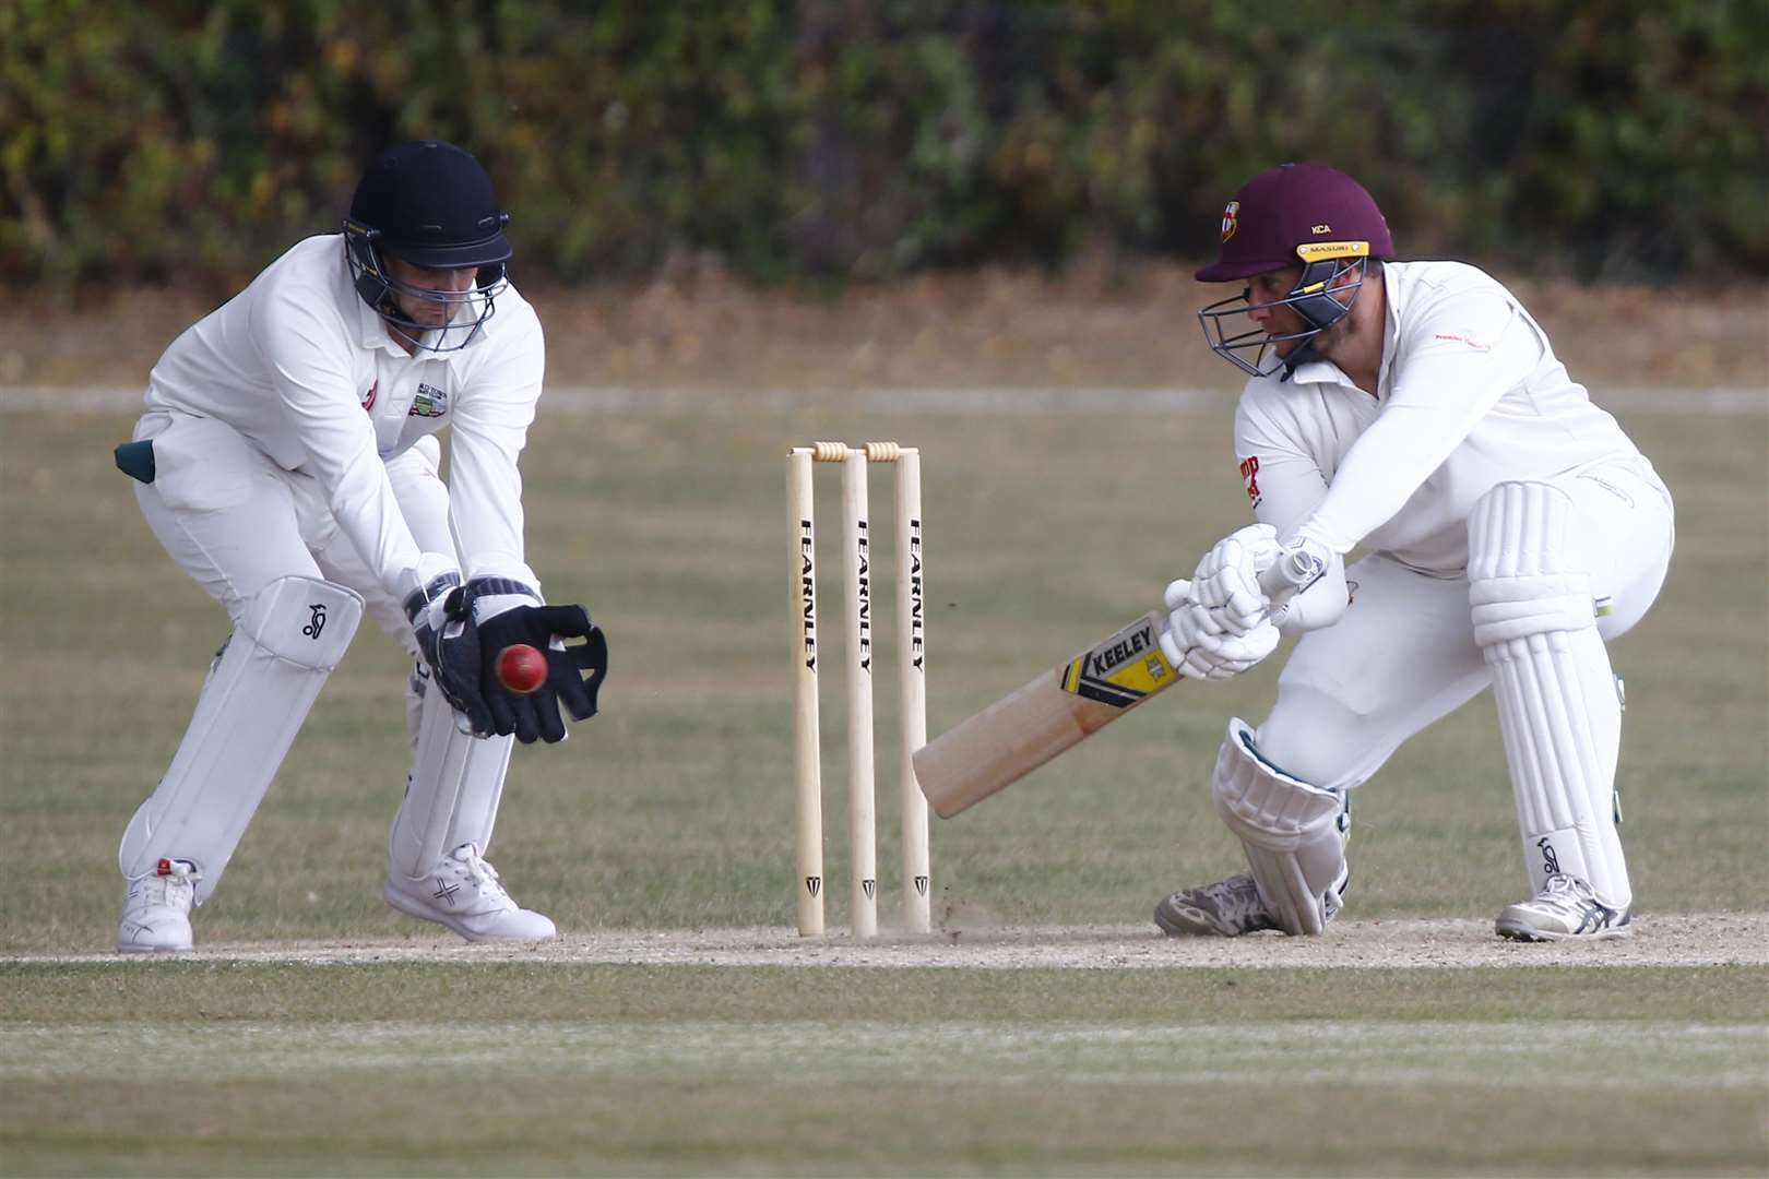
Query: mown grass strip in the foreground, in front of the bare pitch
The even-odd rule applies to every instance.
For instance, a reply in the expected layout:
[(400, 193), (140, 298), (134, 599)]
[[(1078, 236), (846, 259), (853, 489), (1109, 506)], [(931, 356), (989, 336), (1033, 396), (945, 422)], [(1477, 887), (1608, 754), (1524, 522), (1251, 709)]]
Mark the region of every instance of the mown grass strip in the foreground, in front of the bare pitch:
[(0, 979), (14, 1174), (1751, 1174), (1762, 1145), (1760, 969)]

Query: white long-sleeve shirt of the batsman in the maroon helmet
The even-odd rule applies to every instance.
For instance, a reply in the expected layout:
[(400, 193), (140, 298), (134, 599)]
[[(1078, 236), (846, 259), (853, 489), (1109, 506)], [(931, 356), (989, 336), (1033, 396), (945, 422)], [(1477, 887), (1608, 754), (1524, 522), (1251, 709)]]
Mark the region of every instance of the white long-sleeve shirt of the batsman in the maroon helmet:
[(1468, 566), (1468, 513), (1495, 484), (1638, 456), (1500, 283), (1459, 262), (1390, 262), (1376, 394), (1336, 364), (1247, 382), (1235, 453), (1254, 514), (1286, 546)]

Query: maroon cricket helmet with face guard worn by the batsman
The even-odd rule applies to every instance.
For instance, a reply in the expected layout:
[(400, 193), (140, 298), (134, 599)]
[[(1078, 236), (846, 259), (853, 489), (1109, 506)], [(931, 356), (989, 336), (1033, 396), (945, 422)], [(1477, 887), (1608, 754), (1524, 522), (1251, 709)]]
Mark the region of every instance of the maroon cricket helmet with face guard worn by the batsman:
[[(1222, 209), (1222, 255), (1194, 278), (1229, 283), (1300, 265), (1302, 278), (1274, 306), (1295, 308), (1311, 327), (1279, 338), (1256, 325), (1249, 331), (1226, 327), (1226, 316), (1245, 315), (1251, 306), (1247, 292), (1242, 292), (1198, 313), (1205, 339), (1212, 352), (1254, 377), (1270, 377), (1279, 368), (1291, 369), (1314, 359), (1309, 341), (1352, 309), (1364, 281), (1364, 263), (1392, 253), (1394, 239), (1376, 202), (1337, 168), (1279, 164), (1261, 171)], [(1348, 269), (1359, 272), (1357, 281), (1334, 285)], [(1288, 357), (1267, 362), (1267, 348), (1288, 339), (1304, 343)], [(1242, 350), (1252, 350), (1254, 359), (1242, 359)]]

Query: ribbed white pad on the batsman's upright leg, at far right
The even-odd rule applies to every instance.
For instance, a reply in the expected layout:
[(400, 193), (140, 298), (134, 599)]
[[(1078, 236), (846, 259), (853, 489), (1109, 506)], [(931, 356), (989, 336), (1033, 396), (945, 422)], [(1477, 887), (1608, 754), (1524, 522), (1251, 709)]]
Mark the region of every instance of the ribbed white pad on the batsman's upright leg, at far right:
[(1468, 603), (1493, 670), (1532, 891), (1574, 875), (1627, 909), (1613, 811), (1622, 705), (1574, 527), (1573, 500), (1551, 484), (1488, 491), (1468, 518)]

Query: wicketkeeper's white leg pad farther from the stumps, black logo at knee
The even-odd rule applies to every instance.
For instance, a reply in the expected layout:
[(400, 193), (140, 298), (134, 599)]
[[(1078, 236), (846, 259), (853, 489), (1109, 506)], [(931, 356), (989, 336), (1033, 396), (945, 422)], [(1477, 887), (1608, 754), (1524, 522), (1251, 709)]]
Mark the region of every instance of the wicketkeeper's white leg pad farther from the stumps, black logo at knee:
[(172, 767), (122, 833), (126, 877), (189, 859), (196, 903), (209, 900), (361, 620), (363, 599), (320, 578), (278, 578), (246, 603)]

